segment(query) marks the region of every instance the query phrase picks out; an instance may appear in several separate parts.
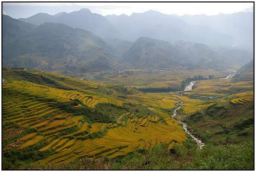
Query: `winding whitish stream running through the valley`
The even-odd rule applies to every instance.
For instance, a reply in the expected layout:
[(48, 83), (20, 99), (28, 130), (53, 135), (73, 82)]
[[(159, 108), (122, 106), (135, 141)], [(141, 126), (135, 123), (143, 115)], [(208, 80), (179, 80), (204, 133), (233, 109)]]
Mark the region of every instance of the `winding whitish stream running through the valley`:
[[(224, 77), (224, 78), (220, 78), (220, 79), (229, 79), (229, 78), (232, 78), (233, 76), (236, 75), (236, 71), (233, 71), (234, 73), (232, 74), (229, 74), (228, 76)], [(196, 81), (192, 81), (190, 82), (190, 84), (183, 90), (183, 92), (186, 92), (186, 91), (190, 91), (193, 89), (193, 85), (196, 83)], [(177, 98), (177, 97), (176, 97)], [(177, 98), (178, 99), (178, 98)], [(177, 108), (174, 110), (174, 113), (172, 115), (172, 117), (174, 119), (176, 119), (179, 123), (182, 124), (182, 127), (184, 129), (184, 131), (190, 135), (196, 142), (197, 142), (197, 145), (198, 145), (198, 149), (202, 149), (202, 147), (204, 146), (204, 143), (199, 139), (197, 138), (195, 135), (191, 134), (189, 131), (188, 131), (188, 128), (187, 128), (187, 124), (185, 122), (182, 122), (180, 121), (179, 119), (177, 119), (175, 116), (177, 115), (177, 110), (179, 110), (181, 108), (181, 104), (183, 103), (183, 101), (181, 101), (180, 99), (178, 99), (180, 103), (177, 103), (176, 106)]]

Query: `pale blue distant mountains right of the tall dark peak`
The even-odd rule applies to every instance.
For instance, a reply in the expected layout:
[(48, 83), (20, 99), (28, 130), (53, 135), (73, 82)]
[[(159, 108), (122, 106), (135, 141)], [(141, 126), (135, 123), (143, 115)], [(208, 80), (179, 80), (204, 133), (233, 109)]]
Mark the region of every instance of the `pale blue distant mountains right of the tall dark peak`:
[[(109, 15), (106, 18), (126, 39), (150, 37), (167, 41), (184, 39), (208, 46), (236, 47), (253, 51), (253, 13), (166, 15), (158, 11)], [(245, 33), (244, 33), (245, 32)]]

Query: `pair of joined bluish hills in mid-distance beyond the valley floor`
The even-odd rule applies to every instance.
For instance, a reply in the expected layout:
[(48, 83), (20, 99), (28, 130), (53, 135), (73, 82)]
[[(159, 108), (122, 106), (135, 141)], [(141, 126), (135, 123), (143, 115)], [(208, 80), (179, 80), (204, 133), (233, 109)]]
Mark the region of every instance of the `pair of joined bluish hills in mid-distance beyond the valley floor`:
[(220, 55), (204, 44), (185, 41), (171, 44), (145, 37), (138, 38), (123, 58), (125, 62), (142, 67), (218, 69), (228, 66)]

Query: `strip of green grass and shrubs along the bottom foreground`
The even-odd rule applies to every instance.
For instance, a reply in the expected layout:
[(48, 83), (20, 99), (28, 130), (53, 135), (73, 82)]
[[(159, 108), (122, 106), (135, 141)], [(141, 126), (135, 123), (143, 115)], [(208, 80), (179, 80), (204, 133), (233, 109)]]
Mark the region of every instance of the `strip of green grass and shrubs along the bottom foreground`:
[[(192, 140), (184, 146), (168, 150), (166, 144), (156, 145), (151, 151), (140, 149), (124, 157), (78, 159), (70, 164), (37, 165), (35, 169), (59, 170), (253, 170), (253, 142), (240, 145), (207, 145), (198, 151)], [(23, 168), (26, 168), (23, 165)], [(33, 169), (33, 168), (31, 168)]]

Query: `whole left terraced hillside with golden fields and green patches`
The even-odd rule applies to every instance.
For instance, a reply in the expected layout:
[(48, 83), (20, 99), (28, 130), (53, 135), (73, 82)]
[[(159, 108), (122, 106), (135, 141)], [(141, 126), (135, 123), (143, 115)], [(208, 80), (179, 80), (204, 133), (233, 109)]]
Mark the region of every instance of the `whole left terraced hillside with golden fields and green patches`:
[(152, 104), (150, 95), (143, 94), (148, 104), (141, 104), (143, 98), (125, 97), (117, 87), (10, 70), (3, 72), (4, 169), (18, 168), (20, 161), (61, 165), (80, 157), (112, 159), (150, 150), (158, 143), (171, 149), (187, 139), (178, 122), (162, 109), (166, 103), (171, 108), (177, 103), (167, 94), (155, 96)]

